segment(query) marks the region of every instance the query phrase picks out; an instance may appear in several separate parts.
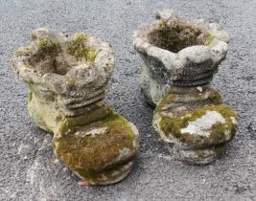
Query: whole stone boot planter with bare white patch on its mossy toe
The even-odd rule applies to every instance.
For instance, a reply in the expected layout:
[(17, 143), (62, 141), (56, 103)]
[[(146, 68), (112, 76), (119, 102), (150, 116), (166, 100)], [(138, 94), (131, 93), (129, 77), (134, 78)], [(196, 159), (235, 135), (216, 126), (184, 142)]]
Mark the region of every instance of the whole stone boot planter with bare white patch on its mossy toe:
[(146, 66), (141, 89), (151, 105), (154, 129), (175, 158), (205, 165), (226, 150), (237, 115), (210, 81), (227, 50), (229, 35), (215, 23), (158, 11), (151, 26), (134, 33), (134, 48)]

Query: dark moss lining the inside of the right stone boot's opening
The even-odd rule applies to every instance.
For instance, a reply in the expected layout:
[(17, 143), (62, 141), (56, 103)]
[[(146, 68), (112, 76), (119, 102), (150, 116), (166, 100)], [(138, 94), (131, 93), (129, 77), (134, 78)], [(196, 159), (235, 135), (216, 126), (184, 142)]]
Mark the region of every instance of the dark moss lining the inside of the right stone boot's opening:
[(198, 44), (197, 37), (200, 31), (190, 27), (181, 25), (178, 20), (170, 24), (167, 20), (162, 20), (159, 29), (151, 33), (151, 43), (159, 48), (177, 53), (178, 51)]

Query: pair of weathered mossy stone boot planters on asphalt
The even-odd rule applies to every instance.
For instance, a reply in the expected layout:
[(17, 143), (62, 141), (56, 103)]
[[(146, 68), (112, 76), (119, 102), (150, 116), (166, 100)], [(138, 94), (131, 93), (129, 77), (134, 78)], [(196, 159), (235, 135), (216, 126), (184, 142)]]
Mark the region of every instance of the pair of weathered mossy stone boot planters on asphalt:
[[(35, 123), (54, 133), (54, 153), (86, 184), (122, 180), (138, 152), (138, 130), (105, 106), (111, 47), (88, 34), (44, 28), (32, 39), (12, 67), (32, 91), (28, 108)], [(209, 84), (228, 40), (219, 25), (174, 11), (158, 11), (151, 26), (134, 33), (134, 48), (146, 63), (141, 89), (156, 106), (153, 126), (175, 157), (191, 164), (216, 160), (235, 134), (235, 112)]]

